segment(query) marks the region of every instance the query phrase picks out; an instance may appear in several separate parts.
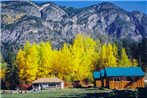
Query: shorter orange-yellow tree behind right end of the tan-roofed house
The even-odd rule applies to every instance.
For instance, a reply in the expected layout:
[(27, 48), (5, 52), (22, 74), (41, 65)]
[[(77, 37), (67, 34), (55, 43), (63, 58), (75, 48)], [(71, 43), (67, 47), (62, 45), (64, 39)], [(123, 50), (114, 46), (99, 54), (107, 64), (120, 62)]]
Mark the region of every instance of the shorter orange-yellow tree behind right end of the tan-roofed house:
[(64, 44), (61, 50), (54, 50), (52, 58), (52, 74), (63, 80), (71, 81), (73, 66), (70, 46)]

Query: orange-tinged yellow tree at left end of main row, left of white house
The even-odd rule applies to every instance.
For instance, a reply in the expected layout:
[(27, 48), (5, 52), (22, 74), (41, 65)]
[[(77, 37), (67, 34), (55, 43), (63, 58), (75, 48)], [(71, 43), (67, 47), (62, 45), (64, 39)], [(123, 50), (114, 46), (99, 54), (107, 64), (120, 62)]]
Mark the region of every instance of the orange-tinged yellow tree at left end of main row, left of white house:
[(37, 44), (25, 44), (24, 50), (20, 49), (17, 57), (16, 64), (19, 69), (19, 79), (21, 83), (31, 83), (36, 79), (38, 72), (38, 49)]

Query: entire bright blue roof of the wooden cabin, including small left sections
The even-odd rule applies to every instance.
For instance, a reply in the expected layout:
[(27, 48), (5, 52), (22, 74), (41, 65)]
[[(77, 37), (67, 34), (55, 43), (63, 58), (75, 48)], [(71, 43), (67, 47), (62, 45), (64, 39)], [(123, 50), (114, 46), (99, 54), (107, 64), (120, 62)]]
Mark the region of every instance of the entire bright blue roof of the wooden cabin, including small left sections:
[(117, 77), (117, 76), (144, 76), (144, 72), (140, 67), (115, 67), (105, 68), (100, 71), (94, 72), (94, 78), (99, 79), (100, 77)]

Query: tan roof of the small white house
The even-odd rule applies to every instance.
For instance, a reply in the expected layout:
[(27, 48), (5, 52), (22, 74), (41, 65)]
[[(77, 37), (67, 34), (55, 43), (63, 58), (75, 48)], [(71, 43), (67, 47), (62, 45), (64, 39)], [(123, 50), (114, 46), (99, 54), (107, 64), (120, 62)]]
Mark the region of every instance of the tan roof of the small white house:
[(63, 80), (60, 80), (58, 78), (39, 78), (32, 83), (52, 83), (52, 82), (64, 82)]

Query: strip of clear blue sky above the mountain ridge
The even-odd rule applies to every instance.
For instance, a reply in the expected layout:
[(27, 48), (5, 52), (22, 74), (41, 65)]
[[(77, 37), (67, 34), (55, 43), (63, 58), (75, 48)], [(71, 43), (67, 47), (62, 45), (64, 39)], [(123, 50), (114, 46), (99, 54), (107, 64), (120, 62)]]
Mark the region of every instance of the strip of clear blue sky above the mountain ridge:
[[(2, 0), (6, 1), (6, 0)], [(141, 11), (147, 14), (147, 0), (32, 0), (36, 3), (54, 2), (61, 6), (83, 8), (101, 2), (111, 2), (126, 11)]]

